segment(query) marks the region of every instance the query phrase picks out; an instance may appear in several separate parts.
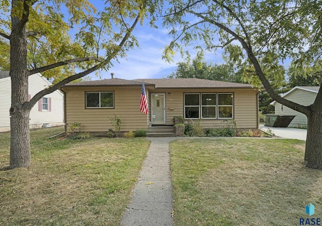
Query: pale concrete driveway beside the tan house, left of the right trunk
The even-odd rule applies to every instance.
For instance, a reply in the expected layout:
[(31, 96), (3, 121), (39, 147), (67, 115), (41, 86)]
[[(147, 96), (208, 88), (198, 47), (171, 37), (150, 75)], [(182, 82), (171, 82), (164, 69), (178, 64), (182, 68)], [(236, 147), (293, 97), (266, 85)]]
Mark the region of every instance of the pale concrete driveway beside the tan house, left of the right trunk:
[(260, 125), (260, 129), (264, 131), (270, 129), (277, 137), (306, 141), (307, 130), (288, 127), (266, 127), (264, 125)]

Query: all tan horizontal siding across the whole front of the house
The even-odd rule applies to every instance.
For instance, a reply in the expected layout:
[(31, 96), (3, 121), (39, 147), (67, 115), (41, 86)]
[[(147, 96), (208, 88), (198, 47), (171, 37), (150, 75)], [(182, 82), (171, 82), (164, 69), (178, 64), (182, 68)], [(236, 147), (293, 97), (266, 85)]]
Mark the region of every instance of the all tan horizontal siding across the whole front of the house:
[[(239, 129), (257, 128), (257, 91), (250, 89), (168, 89), (154, 90), (146, 88), (148, 99), (148, 114), (145, 115), (139, 110), (141, 87), (97, 87), (97, 88), (64, 88), (66, 92), (66, 123), (81, 123), (82, 131), (106, 132), (113, 129), (110, 119), (113, 114), (121, 118), (121, 131), (135, 131), (136, 129), (147, 128), (151, 121), (150, 94), (166, 94), (166, 124), (173, 125), (175, 116), (184, 115), (184, 93), (212, 93), (232, 92), (234, 93), (234, 120)], [(115, 108), (111, 109), (86, 109), (86, 91), (114, 91)], [(169, 95), (170, 92), (170, 95)], [(189, 123), (186, 120), (185, 123)], [(204, 128), (226, 126), (222, 119), (203, 119)], [(68, 130), (68, 126), (67, 126)]]

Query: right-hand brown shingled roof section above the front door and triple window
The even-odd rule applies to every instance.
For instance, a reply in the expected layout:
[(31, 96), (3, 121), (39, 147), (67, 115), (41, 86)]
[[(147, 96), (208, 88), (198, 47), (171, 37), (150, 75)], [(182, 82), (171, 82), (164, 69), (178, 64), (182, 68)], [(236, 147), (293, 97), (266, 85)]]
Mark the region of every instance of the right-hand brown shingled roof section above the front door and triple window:
[(155, 84), (156, 89), (174, 88), (252, 88), (250, 84), (236, 82), (215, 81), (200, 78), (161, 78), (161, 79), (135, 79)]

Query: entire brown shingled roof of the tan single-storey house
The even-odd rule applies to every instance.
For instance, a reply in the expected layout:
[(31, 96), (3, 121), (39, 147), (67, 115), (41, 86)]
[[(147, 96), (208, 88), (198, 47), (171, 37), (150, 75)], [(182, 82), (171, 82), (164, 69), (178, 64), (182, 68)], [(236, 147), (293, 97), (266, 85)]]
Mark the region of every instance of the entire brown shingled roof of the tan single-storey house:
[(214, 80), (207, 80), (207, 79), (200, 79), (200, 78), (156, 78), (156, 79), (134, 79), (134, 80), (110, 78), (110, 79), (95, 80), (95, 81), (68, 83), (63, 87), (141, 86), (142, 81), (144, 81), (145, 86), (154, 86), (155, 89), (252, 88), (252, 85), (250, 84), (214, 81)]

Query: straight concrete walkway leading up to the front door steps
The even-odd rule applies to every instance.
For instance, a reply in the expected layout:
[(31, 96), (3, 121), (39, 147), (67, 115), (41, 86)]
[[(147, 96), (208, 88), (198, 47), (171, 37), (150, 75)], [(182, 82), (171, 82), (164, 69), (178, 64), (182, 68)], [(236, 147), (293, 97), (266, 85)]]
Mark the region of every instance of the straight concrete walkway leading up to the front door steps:
[(173, 225), (169, 142), (178, 138), (148, 138), (146, 159), (121, 225)]

